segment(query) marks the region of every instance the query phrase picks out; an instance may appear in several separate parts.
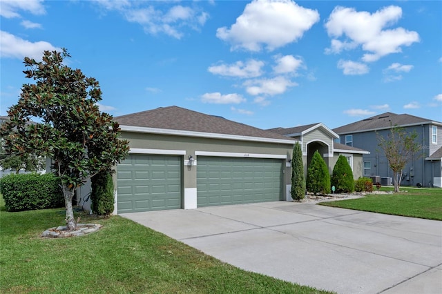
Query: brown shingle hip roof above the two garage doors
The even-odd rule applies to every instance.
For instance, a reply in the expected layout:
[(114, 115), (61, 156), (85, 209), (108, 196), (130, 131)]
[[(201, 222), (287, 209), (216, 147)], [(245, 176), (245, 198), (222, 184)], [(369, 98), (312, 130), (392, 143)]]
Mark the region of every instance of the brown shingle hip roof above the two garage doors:
[(115, 121), (119, 123), (122, 130), (125, 130), (123, 126), (134, 126), (149, 129), (181, 130), (198, 133), (279, 139), (285, 140), (286, 142), (292, 141), (291, 138), (267, 130), (177, 106), (160, 107), (130, 115), (122, 115), (115, 117)]

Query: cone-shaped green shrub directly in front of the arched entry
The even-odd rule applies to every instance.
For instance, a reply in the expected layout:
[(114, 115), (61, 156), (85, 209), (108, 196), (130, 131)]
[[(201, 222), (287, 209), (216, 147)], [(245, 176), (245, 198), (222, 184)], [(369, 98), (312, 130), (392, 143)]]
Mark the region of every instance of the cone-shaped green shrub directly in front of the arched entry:
[(330, 174), (327, 164), (318, 150), (315, 151), (307, 169), (307, 191), (314, 194), (330, 193)]

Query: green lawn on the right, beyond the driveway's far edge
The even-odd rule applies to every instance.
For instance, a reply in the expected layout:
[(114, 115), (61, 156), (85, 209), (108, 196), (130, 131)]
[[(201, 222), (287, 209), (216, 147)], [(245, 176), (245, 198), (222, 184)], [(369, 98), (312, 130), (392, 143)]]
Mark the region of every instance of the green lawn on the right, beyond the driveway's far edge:
[(442, 220), (442, 189), (401, 187), (400, 193), (372, 194), (358, 199), (321, 202), (320, 205)]

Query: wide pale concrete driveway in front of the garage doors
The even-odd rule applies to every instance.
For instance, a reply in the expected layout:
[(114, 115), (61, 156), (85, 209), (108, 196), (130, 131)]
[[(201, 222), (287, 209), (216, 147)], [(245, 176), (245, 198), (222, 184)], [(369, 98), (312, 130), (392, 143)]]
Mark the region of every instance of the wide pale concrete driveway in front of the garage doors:
[(337, 293), (442, 293), (442, 222), (311, 203), (128, 213), (247, 271)]

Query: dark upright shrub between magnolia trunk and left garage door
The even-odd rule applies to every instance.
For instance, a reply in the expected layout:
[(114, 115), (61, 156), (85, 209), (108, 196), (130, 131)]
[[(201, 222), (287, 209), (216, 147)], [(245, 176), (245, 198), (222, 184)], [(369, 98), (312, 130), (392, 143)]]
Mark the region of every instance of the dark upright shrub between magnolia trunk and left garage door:
[(112, 175), (101, 171), (91, 179), (90, 208), (97, 215), (110, 215), (114, 210)]

